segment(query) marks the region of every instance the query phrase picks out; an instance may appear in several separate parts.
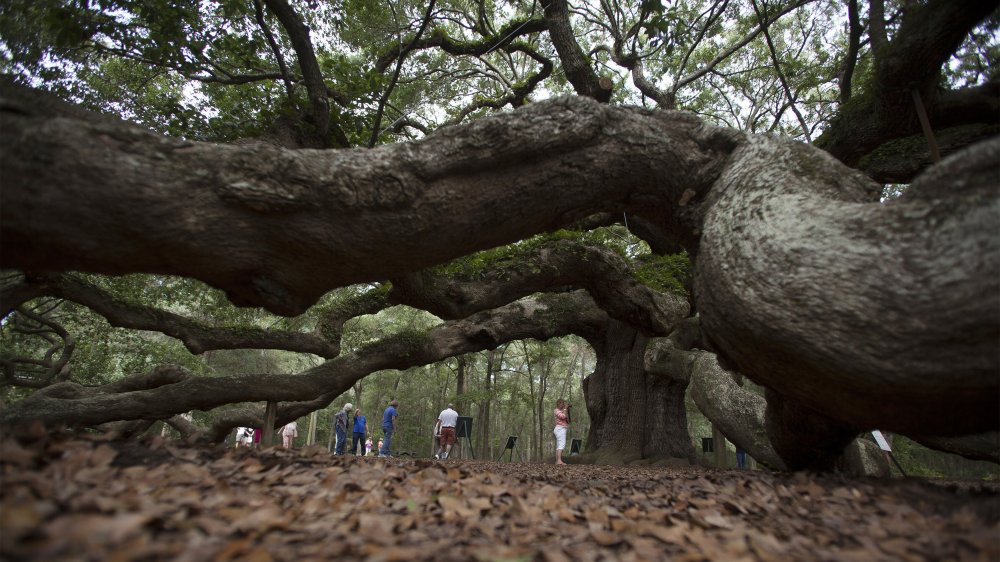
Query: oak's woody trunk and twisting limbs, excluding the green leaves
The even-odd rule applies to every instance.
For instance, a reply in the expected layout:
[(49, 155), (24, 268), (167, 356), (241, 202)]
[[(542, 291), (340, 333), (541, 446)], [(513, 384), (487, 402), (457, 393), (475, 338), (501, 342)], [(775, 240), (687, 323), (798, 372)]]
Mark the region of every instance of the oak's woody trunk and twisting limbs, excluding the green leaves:
[[(404, 59), (414, 53), (440, 49), (485, 60), (499, 49), (512, 62), (523, 55), (541, 66), (538, 74), (508, 81), (505, 95), (477, 98), (457, 111), (461, 119), (486, 107), (527, 103), (552, 62), (538, 45), (514, 39), (544, 31), (578, 95), (370, 149), (329, 149), (366, 135), (346, 129), (346, 113), (332, 110), (331, 101), (340, 103), (346, 94), (323, 87), (309, 29), (282, 1), (257, 5), (255, 18), (270, 31), (266, 6), (280, 23), (298, 76), (273, 38), (268, 44), (280, 72), (271, 77), (198, 75), (204, 61), (197, 57), (164, 64), (205, 81), (282, 79), (289, 102), (299, 104), (291, 132), (282, 132), (285, 115), (258, 141), (164, 136), (5, 82), (0, 267), (24, 272), (0, 295), (5, 314), (30, 298), (56, 296), (116, 325), (177, 337), (196, 353), (273, 347), (327, 361), (295, 376), (239, 375), (235, 380), (246, 383), (239, 385), (170, 366), (105, 387), (64, 382), (8, 406), (3, 419), (99, 424), (272, 400), (282, 404), (279, 421), (289, 420), (328, 404), (378, 369), (425, 364), (518, 338), (576, 333), (598, 355), (586, 383), (594, 421), (588, 441), (598, 460), (691, 457), (683, 435), (689, 384), (730, 439), (775, 467), (832, 466), (860, 430), (875, 427), (927, 442), (995, 431), (1000, 142), (957, 152), (888, 203), (878, 202), (882, 186), (869, 175), (889, 176), (870, 166), (860, 166), (868, 174), (849, 167), (858, 165), (859, 155), (914, 132), (916, 121), (900, 101), (906, 95), (921, 94), (932, 115), (955, 107), (950, 94), (934, 94), (933, 85), (961, 37), (995, 7), (968, 4), (968, 10), (965, 4), (957, 11), (942, 8), (948, 22), (943, 26), (932, 25), (923, 6), (903, 11), (887, 43), (880, 41), (883, 15), (872, 3), (875, 87), (844, 106), (818, 143), (828, 151), (672, 111), (680, 88), (759, 36), (767, 38), (769, 60), (795, 109), (794, 84), (781, 72), (772, 35), (780, 18), (799, 4), (752, 12), (756, 19), (741, 20), (746, 33), (731, 50), (689, 74), (682, 65), (669, 92), (646, 79), (656, 50), (638, 39), (639, 31), (665, 21), (662, 12), (643, 8), (632, 21), (625, 21), (625, 12), (607, 14), (614, 22), (608, 28), (613, 45), (603, 49), (663, 109), (606, 103), (614, 85), (587, 63), (602, 49), (589, 55), (581, 50), (565, 1), (544, 2), (543, 13), (503, 26), (480, 13), (469, 27), (477, 40), (429, 26), (432, 4), (411, 35), (380, 53), (376, 70), (395, 71), (378, 98), (372, 141), (397, 127), (419, 126), (404, 114), (379, 130), (390, 93), (401, 87)], [(927, 9), (934, 6), (929, 2)], [(711, 33), (723, 13), (724, 6), (714, 6), (693, 21), (691, 29), (701, 30), (694, 36)], [(919, 72), (901, 62), (918, 48), (931, 50)], [(848, 55), (844, 73), (858, 52)], [(920, 80), (906, 89), (899, 76)], [(963, 124), (995, 115), (995, 94), (989, 98), (987, 86), (976, 90), (986, 88), (986, 101), (975, 105), (982, 111), (956, 110), (968, 116)], [(296, 89), (305, 95), (296, 97)], [(862, 103), (874, 103), (878, 111), (855, 119), (852, 108)], [(975, 138), (982, 138), (977, 131)], [(907, 179), (926, 166), (920, 158), (908, 162)], [(695, 265), (693, 307), (636, 283), (628, 266), (606, 252), (558, 241), (525, 259), (527, 267), (497, 267), (492, 277), (461, 280), (433, 269), (477, 250), (622, 213), (654, 249), (688, 251)], [(71, 271), (190, 277), (222, 289), (238, 305), (287, 315), (310, 309), (347, 284), (391, 283), (347, 308), (324, 312), (313, 334), (220, 332), (164, 311), (112, 302)], [(552, 294), (531, 296), (540, 291)], [(343, 322), (390, 303), (447, 320), (426, 334), (341, 355)], [(680, 331), (678, 326), (694, 320), (682, 324), (692, 313), (696, 333)], [(14, 380), (14, 369), (7, 367), (8, 380)], [(47, 382), (62, 380), (63, 367), (52, 362)], [(766, 408), (759, 397), (723, 391), (741, 376), (728, 373), (767, 387)], [(710, 386), (716, 390), (706, 391)], [(253, 415), (231, 410), (209, 437), (248, 424)], [(616, 434), (615, 428), (627, 431)], [(963, 446), (954, 443), (962, 442), (950, 441), (957, 449)]]

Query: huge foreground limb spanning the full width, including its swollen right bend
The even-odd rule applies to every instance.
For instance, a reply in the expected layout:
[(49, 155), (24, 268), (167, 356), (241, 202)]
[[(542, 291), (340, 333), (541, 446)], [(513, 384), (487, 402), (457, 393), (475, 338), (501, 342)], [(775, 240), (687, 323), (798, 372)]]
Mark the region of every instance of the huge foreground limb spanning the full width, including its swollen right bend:
[(699, 250), (714, 347), (787, 399), (901, 433), (1000, 419), (1000, 143), (881, 205), (809, 147), (581, 97), (364, 152), (190, 143), (2, 97), (3, 267), (176, 273), (294, 313), (345, 283), (628, 210)]

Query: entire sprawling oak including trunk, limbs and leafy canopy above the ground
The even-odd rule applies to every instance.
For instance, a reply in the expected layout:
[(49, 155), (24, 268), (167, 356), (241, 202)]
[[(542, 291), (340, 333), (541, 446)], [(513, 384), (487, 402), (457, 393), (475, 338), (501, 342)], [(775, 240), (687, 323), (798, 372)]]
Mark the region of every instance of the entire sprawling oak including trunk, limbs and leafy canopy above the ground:
[(517, 354), (539, 456), (559, 385), (601, 462), (692, 458), (689, 387), (775, 468), (1000, 459), (997, 6), (5, 3), (0, 418), (218, 440), (445, 369), (488, 419), (575, 335)]

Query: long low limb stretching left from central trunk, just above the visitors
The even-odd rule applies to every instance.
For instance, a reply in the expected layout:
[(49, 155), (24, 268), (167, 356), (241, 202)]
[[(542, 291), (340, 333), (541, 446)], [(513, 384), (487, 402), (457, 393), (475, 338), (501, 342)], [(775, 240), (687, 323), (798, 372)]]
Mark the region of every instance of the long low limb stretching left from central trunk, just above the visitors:
[(0, 412), (0, 421), (97, 425), (118, 420), (164, 419), (238, 402), (292, 402), (278, 413), (276, 425), (281, 425), (329, 404), (350, 390), (356, 381), (377, 370), (426, 365), (517, 339), (591, 333), (607, 319), (586, 293), (544, 295), (446, 322), (423, 334), (401, 334), (297, 375), (205, 378), (193, 376), (180, 367), (166, 366), (100, 387), (59, 383), (8, 406)]

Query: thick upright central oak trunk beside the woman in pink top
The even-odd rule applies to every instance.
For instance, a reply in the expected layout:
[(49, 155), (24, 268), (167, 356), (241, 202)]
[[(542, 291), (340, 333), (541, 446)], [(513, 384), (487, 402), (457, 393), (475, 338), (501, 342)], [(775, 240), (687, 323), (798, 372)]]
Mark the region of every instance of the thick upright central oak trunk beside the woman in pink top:
[(591, 341), (597, 366), (584, 384), (590, 415), (586, 456), (597, 463), (694, 459), (684, 406), (687, 385), (646, 373), (648, 341), (617, 320)]

